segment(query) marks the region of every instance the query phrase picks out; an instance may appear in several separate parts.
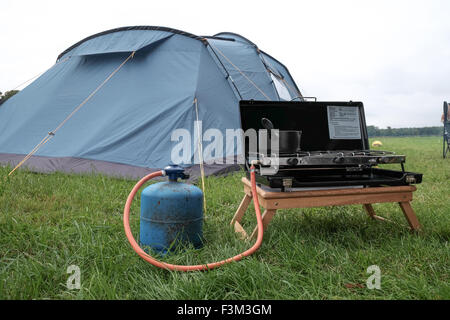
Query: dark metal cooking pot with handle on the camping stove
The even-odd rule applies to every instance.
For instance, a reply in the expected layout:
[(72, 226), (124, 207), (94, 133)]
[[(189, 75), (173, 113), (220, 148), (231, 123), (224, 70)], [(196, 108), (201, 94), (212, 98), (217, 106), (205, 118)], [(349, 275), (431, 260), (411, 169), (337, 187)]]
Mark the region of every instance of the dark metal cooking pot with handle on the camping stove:
[[(274, 129), (272, 121), (267, 118), (262, 118), (261, 123), (265, 129), (268, 130), (267, 146), (270, 148), (272, 145), (272, 139), (278, 139), (279, 152), (282, 153), (298, 153), (301, 151), (300, 142), (302, 138), (302, 132), (299, 130), (278, 130), (278, 134), (271, 134), (271, 130)], [(271, 153), (272, 151), (269, 151)]]

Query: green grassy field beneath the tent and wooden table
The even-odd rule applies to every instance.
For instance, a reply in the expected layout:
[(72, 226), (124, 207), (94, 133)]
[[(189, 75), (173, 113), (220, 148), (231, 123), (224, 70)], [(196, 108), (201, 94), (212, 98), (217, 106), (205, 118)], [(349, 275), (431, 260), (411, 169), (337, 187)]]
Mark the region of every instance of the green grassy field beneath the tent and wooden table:
[[(412, 203), (422, 232), (372, 221), (361, 206), (288, 210), (275, 216), (256, 254), (210, 272), (157, 269), (131, 250), (122, 210), (135, 181), (19, 171), (0, 186), (0, 299), (450, 299), (450, 159), (442, 159), (442, 137), (381, 140), (383, 149), (406, 154), (407, 170), (424, 174)], [(0, 168), (2, 181), (7, 172)], [(207, 179), (205, 246), (166, 261), (212, 262), (251, 245), (229, 226), (242, 175)], [(406, 226), (397, 205), (374, 207)], [(139, 201), (133, 208), (138, 230)], [(254, 223), (251, 210), (244, 227)], [(80, 290), (66, 287), (70, 265), (80, 267)], [(370, 265), (381, 269), (381, 290), (365, 288)]]

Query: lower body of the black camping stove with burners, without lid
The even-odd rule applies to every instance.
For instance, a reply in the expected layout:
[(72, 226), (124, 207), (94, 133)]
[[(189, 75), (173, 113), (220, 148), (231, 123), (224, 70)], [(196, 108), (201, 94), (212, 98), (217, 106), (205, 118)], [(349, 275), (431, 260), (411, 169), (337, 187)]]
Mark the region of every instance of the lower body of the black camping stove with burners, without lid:
[[(283, 153), (265, 156), (249, 153), (259, 160), (257, 180), (283, 191), (305, 187), (378, 186), (420, 183), (421, 174), (405, 172), (404, 155), (378, 150), (329, 150)], [(379, 164), (401, 164), (401, 171), (376, 168)]]

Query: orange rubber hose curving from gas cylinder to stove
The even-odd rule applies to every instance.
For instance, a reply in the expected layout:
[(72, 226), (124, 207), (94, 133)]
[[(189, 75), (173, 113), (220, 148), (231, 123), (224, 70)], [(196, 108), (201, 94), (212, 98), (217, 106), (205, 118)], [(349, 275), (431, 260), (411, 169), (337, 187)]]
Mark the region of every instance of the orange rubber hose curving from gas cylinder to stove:
[(199, 264), (199, 265), (176, 265), (176, 264), (170, 264), (170, 263), (165, 263), (159, 260), (156, 260), (155, 258), (153, 258), (152, 256), (150, 256), (149, 254), (147, 254), (144, 250), (141, 249), (141, 247), (139, 247), (139, 244), (136, 242), (136, 240), (133, 237), (133, 234), (131, 233), (131, 229), (130, 229), (130, 207), (131, 207), (131, 203), (133, 202), (133, 198), (136, 195), (136, 193), (138, 192), (138, 190), (142, 187), (142, 185), (144, 183), (146, 183), (148, 180), (153, 179), (155, 177), (160, 177), (164, 175), (163, 171), (157, 171), (154, 173), (151, 173), (147, 176), (145, 176), (144, 178), (142, 178), (135, 186), (134, 188), (131, 190), (130, 194), (128, 195), (127, 198), (127, 202), (125, 203), (125, 208), (123, 210), (123, 226), (125, 228), (125, 235), (127, 236), (128, 241), (131, 244), (131, 247), (133, 248), (134, 251), (136, 251), (136, 253), (145, 261), (151, 263), (152, 265), (158, 267), (158, 268), (162, 268), (162, 269), (167, 269), (167, 270), (175, 270), (175, 271), (201, 271), (201, 270), (210, 270), (210, 269), (214, 269), (217, 267), (220, 267), (226, 263), (230, 263), (233, 261), (239, 261), (244, 257), (247, 257), (251, 254), (253, 254), (256, 250), (258, 250), (258, 248), (261, 246), (262, 240), (263, 240), (263, 223), (262, 223), (262, 217), (261, 217), (261, 209), (259, 207), (259, 202), (258, 202), (258, 197), (255, 196), (256, 193), (256, 180), (255, 180), (255, 167), (252, 166), (250, 168), (250, 177), (251, 177), (251, 185), (252, 185), (252, 194), (253, 196), (253, 203), (255, 205), (255, 211), (256, 211), (256, 220), (258, 223), (258, 237), (256, 239), (255, 244), (248, 250), (232, 257), (232, 258), (228, 258), (222, 261), (218, 261), (218, 262), (212, 262), (212, 263), (207, 263), (207, 264)]

